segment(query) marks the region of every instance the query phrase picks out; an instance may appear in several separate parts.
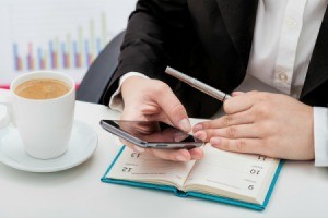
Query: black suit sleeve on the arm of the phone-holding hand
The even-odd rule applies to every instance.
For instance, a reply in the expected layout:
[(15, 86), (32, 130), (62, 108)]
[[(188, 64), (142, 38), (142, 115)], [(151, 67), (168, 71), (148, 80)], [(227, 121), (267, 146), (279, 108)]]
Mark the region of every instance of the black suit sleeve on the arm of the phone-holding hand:
[(185, 0), (139, 0), (129, 17), (119, 64), (103, 104), (108, 105), (124, 74), (141, 72), (162, 80), (166, 65), (181, 64), (192, 44), (191, 29)]

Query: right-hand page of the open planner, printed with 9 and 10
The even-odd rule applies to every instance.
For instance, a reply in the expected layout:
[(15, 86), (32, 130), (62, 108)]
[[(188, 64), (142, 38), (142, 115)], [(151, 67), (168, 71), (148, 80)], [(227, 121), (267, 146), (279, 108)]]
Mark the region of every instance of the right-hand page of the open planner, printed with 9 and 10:
[[(207, 144), (185, 183), (186, 190), (218, 193), (230, 198), (261, 204), (279, 160), (259, 155), (220, 150)], [(206, 189), (209, 186), (210, 189)]]

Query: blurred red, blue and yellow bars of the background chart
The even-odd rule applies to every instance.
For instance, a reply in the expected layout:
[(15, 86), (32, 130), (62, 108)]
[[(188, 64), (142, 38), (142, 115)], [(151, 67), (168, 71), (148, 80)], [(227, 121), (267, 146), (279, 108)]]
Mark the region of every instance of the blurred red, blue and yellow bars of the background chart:
[[(107, 25), (104, 12), (102, 12), (98, 23), (102, 27), (101, 35), (95, 34), (95, 21), (90, 20), (87, 31), (79, 26), (74, 34), (66, 33), (66, 39), (59, 39), (56, 36), (49, 39), (48, 45), (44, 47), (35, 46), (33, 41), (26, 45), (14, 41), (12, 45), (14, 70), (57, 70), (90, 66), (107, 43)], [(25, 51), (25, 53), (21, 51)]]

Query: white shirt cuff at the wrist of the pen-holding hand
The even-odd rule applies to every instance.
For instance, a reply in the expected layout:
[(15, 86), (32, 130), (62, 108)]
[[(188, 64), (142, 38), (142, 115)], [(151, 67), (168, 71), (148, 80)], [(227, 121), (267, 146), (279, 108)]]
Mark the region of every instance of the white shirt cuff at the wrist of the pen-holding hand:
[(314, 107), (315, 166), (328, 166), (328, 109)]

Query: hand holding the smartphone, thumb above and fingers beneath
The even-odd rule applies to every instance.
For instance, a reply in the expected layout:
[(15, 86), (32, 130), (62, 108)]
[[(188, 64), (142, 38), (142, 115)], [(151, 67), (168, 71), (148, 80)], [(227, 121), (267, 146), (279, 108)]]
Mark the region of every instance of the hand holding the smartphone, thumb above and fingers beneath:
[[(167, 84), (157, 80), (131, 76), (122, 83), (121, 95), (125, 104), (121, 113), (122, 120), (163, 121), (185, 132), (191, 131), (186, 109)], [(147, 152), (167, 160), (188, 161), (201, 159), (203, 156), (200, 148), (190, 150), (144, 149), (131, 143), (125, 143), (138, 153)]]

